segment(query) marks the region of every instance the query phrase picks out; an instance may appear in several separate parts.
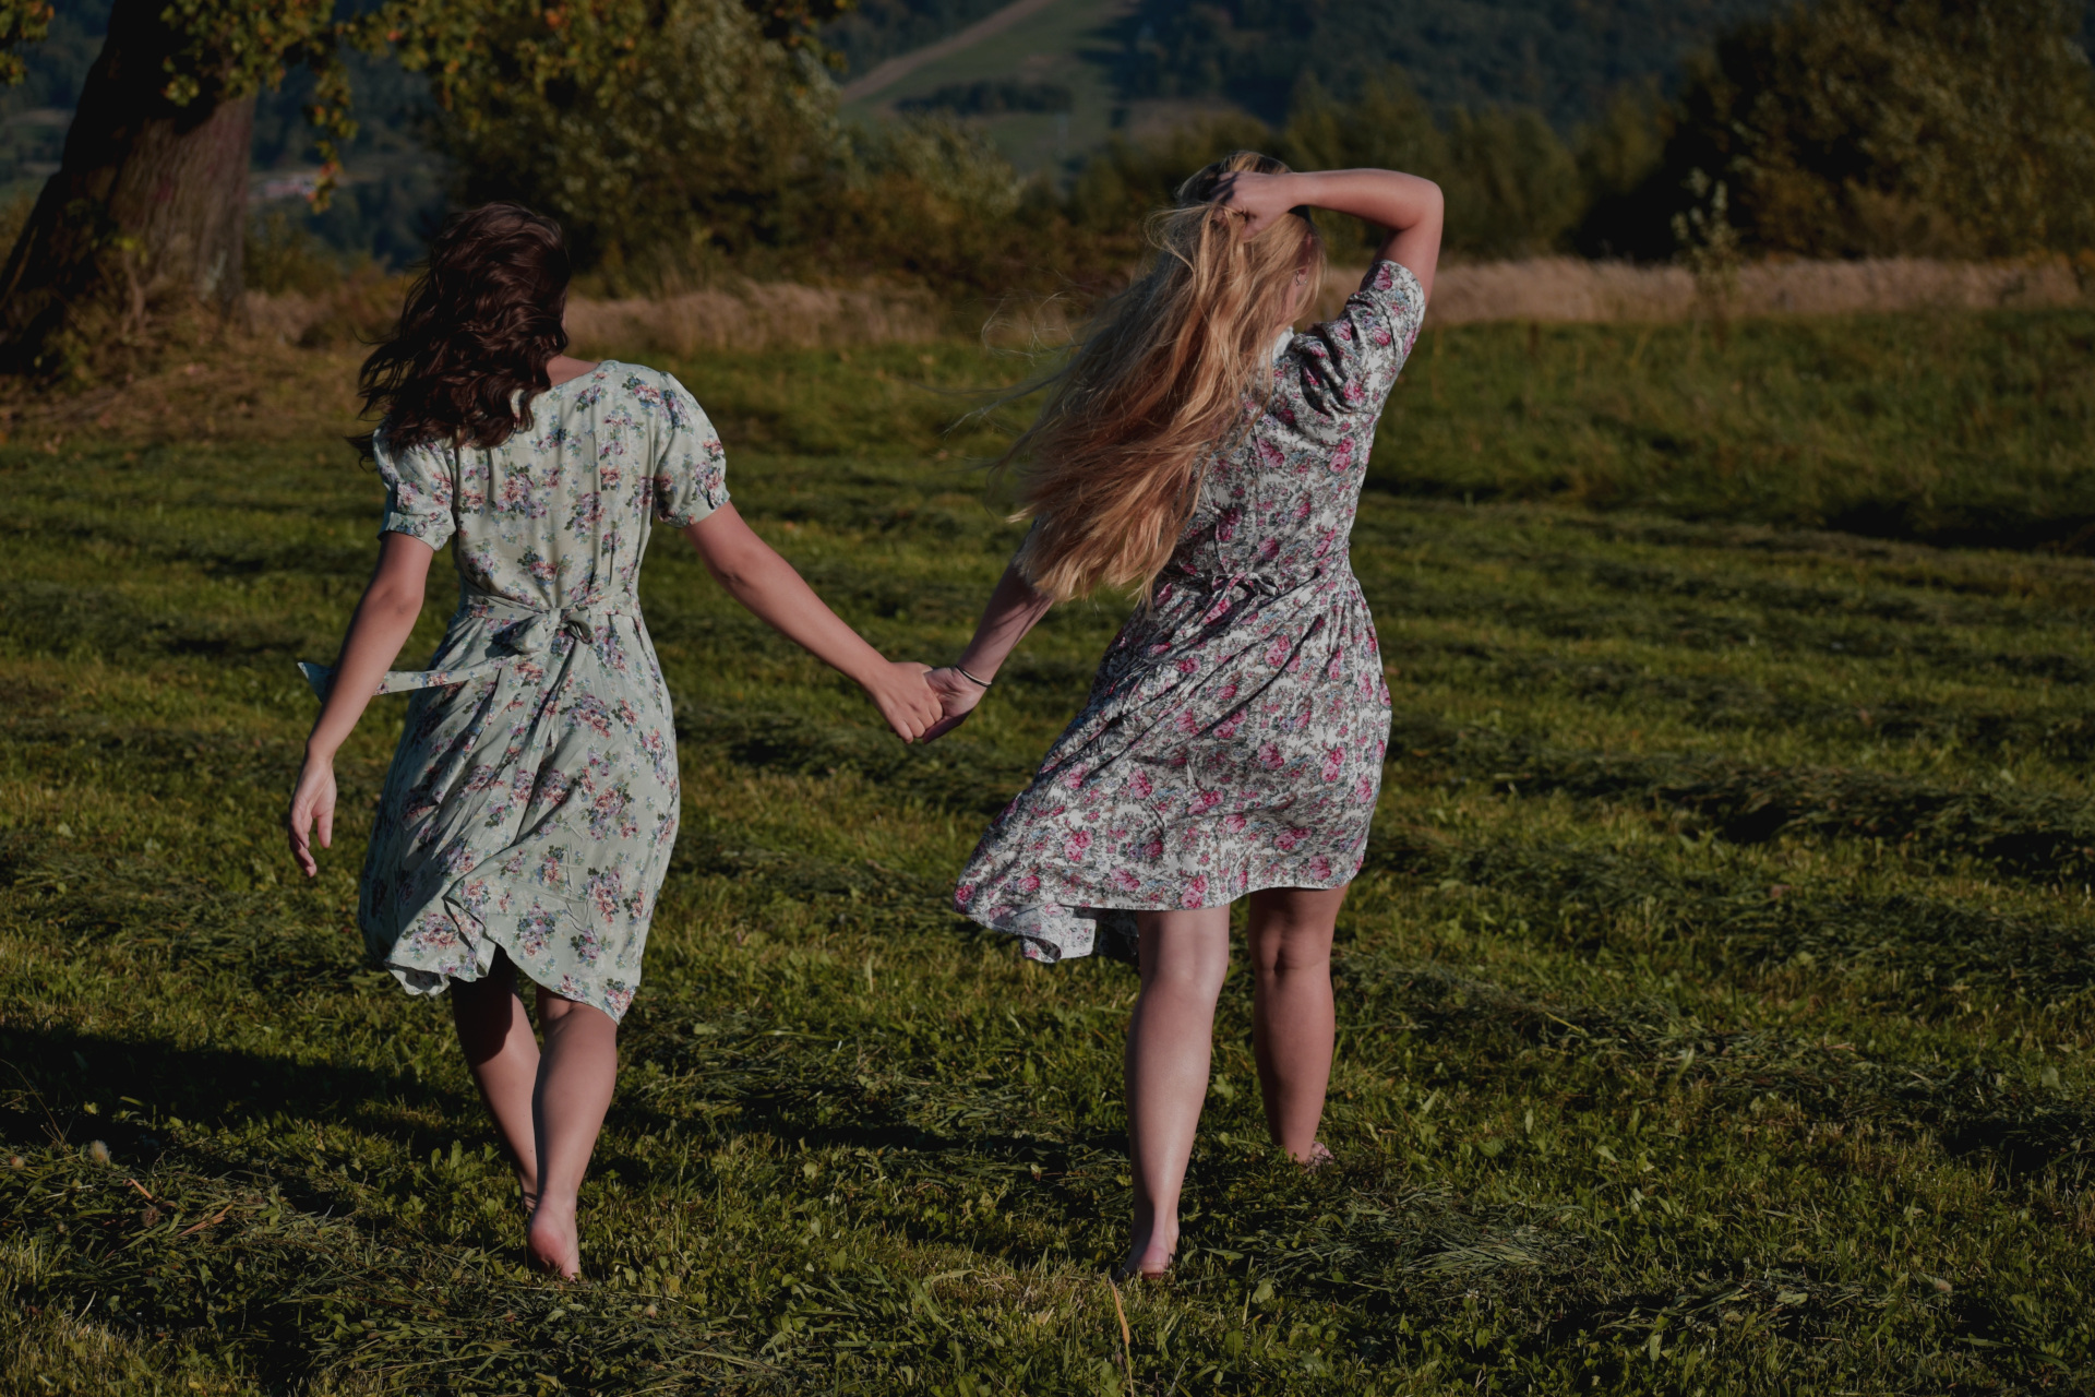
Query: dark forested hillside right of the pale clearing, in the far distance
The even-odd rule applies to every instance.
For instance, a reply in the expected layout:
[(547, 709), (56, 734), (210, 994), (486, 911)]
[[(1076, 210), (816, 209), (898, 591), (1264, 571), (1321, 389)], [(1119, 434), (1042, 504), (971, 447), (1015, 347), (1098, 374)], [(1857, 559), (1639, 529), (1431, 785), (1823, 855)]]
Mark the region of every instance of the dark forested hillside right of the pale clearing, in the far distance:
[(1280, 119), (1301, 77), (1341, 94), (1402, 67), (1433, 107), (1536, 107), (1559, 128), (1668, 77), (1781, 0), (1135, 0), (1129, 96), (1221, 96)]

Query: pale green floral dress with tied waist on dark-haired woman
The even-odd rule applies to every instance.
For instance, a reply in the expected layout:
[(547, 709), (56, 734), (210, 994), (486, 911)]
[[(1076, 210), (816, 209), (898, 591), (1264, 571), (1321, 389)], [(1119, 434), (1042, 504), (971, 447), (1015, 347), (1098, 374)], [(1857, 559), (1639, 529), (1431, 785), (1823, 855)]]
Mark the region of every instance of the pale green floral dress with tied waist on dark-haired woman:
[[(492, 450), (377, 440), (381, 532), (455, 540), (459, 609), (394, 752), (358, 922), (411, 995), (494, 951), (614, 1020), (677, 838), (677, 735), (635, 593), (652, 524), (727, 503), (721, 438), (666, 373), (605, 360)], [(314, 687), (327, 672), (306, 666)]]

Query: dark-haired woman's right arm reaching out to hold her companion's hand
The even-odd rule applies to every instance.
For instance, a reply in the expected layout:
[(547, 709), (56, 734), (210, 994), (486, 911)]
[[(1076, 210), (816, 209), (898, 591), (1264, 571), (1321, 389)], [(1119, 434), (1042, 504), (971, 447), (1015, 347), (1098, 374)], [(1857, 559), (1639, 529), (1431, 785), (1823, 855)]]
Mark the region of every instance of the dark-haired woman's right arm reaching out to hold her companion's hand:
[(916, 741), (941, 714), (924, 683), (926, 666), (888, 660), (823, 605), (815, 589), (756, 536), (733, 505), (721, 505), (683, 530), (698, 555), (735, 601), (788, 641), (865, 689), (895, 735)]

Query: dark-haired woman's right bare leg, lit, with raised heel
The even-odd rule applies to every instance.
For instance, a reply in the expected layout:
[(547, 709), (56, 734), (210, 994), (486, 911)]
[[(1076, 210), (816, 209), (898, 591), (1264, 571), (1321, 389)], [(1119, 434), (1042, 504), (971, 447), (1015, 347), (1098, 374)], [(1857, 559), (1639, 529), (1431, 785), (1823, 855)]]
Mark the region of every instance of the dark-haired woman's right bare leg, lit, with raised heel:
[(532, 1095), (538, 1206), (530, 1215), (526, 1244), (541, 1267), (574, 1280), (582, 1273), (574, 1200), (618, 1083), (618, 1024), (603, 1010), (561, 999), (543, 984), (538, 1022), (545, 1024), (538, 1091)]

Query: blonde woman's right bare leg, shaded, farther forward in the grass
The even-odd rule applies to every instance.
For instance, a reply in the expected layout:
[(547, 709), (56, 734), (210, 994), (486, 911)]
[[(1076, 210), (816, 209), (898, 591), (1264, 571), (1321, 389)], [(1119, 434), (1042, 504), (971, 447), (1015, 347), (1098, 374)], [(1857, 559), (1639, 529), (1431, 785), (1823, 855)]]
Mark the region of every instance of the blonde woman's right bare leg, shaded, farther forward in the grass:
[(1251, 1045), (1274, 1144), (1311, 1165), (1330, 1085), (1330, 934), (1345, 888), (1251, 894)]

